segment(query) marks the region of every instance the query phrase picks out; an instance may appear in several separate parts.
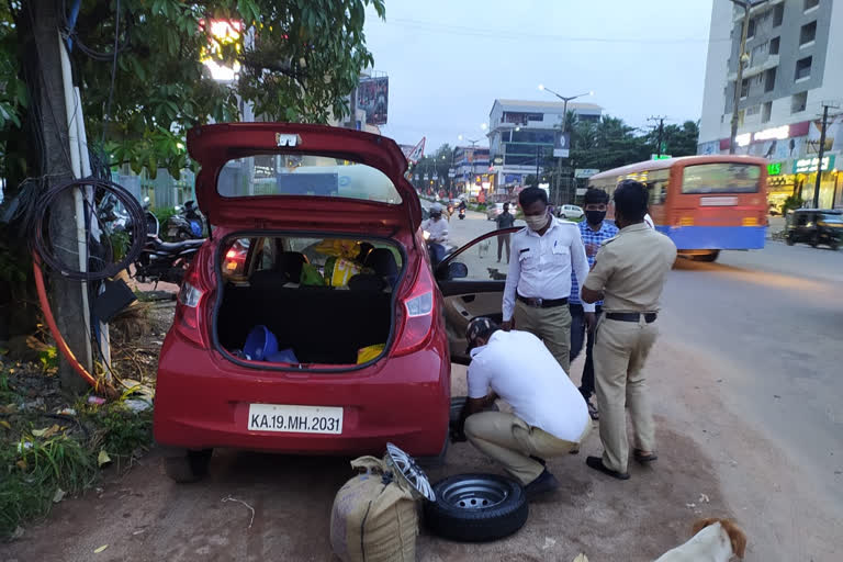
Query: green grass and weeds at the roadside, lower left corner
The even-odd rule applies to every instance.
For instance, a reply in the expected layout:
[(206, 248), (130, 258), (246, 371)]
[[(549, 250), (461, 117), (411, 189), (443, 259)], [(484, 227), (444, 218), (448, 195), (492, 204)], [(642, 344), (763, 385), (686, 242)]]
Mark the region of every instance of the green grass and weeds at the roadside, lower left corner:
[(102, 405), (80, 398), (75, 416), (54, 415), (24, 409), (31, 397), (13, 376), (0, 368), (0, 540), (90, 488), (104, 459), (123, 470), (153, 440), (153, 411), (133, 412), (131, 393)]

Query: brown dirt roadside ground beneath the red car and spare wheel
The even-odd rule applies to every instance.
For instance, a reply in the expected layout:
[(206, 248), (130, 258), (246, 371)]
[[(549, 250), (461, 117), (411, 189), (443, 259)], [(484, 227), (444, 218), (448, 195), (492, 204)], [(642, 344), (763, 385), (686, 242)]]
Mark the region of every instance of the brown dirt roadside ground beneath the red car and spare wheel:
[[(158, 321), (171, 305), (153, 311), (143, 345), (162, 337)], [(582, 358), (572, 371), (582, 372)], [(730, 366), (664, 338), (650, 371), (660, 453), (653, 467), (631, 463), (627, 482), (587, 469), (586, 454), (600, 451), (595, 426), (578, 456), (550, 461), (562, 487), (530, 505), (519, 532), (462, 544), (423, 528), (418, 560), (572, 561), (583, 552), (592, 562), (647, 561), (684, 542), (695, 519), (711, 516), (733, 517), (746, 530), (749, 561), (843, 559), (834, 510), (799, 477), (798, 464), (724, 406)], [(453, 394), (464, 393), (464, 368), (454, 366)], [(0, 562), (336, 560), (329, 513), (352, 476), (348, 461), (220, 450), (206, 480), (178, 485), (153, 451), (127, 474), (109, 474), (97, 491), (57, 505), (22, 539), (0, 544)], [(428, 474), (436, 481), (477, 471), (499, 472), (458, 443), (447, 464)], [(249, 507), (227, 499), (254, 508), (254, 520)]]

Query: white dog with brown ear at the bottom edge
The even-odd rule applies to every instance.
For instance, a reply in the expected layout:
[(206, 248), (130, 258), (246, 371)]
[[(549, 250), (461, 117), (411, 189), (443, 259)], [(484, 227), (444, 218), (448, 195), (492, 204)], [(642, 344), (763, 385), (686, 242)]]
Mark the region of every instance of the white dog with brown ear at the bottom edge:
[(692, 528), (694, 537), (659, 557), (655, 562), (728, 562), (743, 559), (746, 536), (730, 519), (700, 519)]

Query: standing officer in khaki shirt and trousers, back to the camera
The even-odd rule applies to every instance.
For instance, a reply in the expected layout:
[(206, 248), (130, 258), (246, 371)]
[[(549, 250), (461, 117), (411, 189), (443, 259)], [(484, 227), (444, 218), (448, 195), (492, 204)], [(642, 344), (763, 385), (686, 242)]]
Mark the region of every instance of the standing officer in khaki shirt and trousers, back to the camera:
[(614, 200), (615, 224), (620, 232), (597, 252), (582, 292), (587, 303), (604, 301), (594, 344), (604, 453), (588, 457), (586, 463), (612, 477), (627, 480), (625, 405), (629, 406), (632, 419), (634, 459), (641, 463), (656, 459), (643, 367), (659, 335), (659, 300), (676, 259), (676, 246), (644, 223), (648, 192), (643, 183), (621, 181)]

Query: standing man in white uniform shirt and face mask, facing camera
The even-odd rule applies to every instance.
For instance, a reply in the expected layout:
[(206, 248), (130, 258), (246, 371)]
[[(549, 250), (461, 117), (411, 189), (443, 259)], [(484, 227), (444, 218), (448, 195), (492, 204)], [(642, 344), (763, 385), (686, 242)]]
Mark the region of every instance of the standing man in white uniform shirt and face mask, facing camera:
[[(565, 372), (571, 348), (571, 272), (581, 284), (588, 274), (580, 229), (574, 223), (548, 213), (548, 194), (527, 188), (518, 194), (527, 227), (513, 235), (513, 254), (506, 276), (503, 328), (515, 327), (536, 335)], [(593, 304), (583, 306), (594, 312)], [(591, 326), (589, 326), (591, 327)]]

